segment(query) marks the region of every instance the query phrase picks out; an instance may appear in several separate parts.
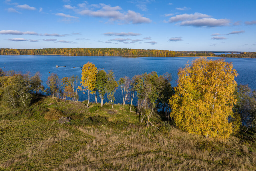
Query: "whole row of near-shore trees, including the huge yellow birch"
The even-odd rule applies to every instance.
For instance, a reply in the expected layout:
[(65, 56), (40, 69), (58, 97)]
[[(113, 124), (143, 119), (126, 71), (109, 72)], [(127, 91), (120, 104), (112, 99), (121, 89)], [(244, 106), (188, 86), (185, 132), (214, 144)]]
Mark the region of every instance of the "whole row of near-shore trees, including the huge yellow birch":
[[(47, 93), (52, 97), (77, 101), (78, 91), (94, 94), (95, 103), (100, 97), (115, 103), (115, 93), (120, 86), (122, 108), (128, 105), (131, 111), (134, 96), (137, 97), (136, 114), (147, 126), (156, 127), (152, 115), (164, 114), (167, 121), (173, 122), (181, 130), (204, 135), (205, 137), (228, 138), (237, 134), (240, 128), (255, 129), (256, 91), (248, 85), (238, 85), (234, 78), (238, 75), (232, 63), (224, 59), (207, 60), (199, 58), (186, 64), (178, 71), (177, 86), (172, 87), (172, 75), (156, 72), (127, 76), (115, 80), (112, 70), (98, 70), (93, 63), (82, 68), (81, 80), (78, 76), (58, 78), (51, 73), (47, 79), (48, 88), (41, 84), (39, 73), (20, 74), (0, 70), (0, 97), (5, 106), (13, 109), (30, 104), (33, 94)], [(80, 85), (78, 82), (80, 81)]]

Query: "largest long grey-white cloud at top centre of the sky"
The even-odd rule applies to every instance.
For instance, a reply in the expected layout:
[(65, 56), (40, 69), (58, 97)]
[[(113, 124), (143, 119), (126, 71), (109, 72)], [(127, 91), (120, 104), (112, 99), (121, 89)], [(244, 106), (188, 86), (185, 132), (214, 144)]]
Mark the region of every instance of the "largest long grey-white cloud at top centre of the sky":
[[(111, 7), (110, 5), (106, 4), (99, 4), (99, 6), (101, 7), (100, 10), (77, 9), (76, 12), (81, 15), (107, 18), (109, 19), (109, 22), (119, 22), (120, 24), (140, 24), (151, 22), (149, 18), (143, 17), (142, 14), (136, 13), (132, 10), (120, 12), (122, 8), (119, 6)], [(84, 6), (80, 7), (85, 8)]]

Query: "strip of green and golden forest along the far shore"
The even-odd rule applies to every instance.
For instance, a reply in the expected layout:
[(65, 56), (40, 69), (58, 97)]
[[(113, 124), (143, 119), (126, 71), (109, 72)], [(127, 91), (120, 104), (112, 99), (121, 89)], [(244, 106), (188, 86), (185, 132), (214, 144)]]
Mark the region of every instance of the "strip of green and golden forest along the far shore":
[(172, 51), (157, 49), (129, 49), (129, 48), (45, 48), (45, 49), (10, 49), (1, 48), (0, 55), (69, 55), (69, 56), (210, 56), (256, 58), (256, 52), (240, 52), (240, 54), (215, 55), (209, 51)]

